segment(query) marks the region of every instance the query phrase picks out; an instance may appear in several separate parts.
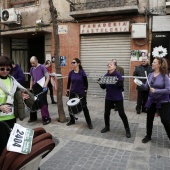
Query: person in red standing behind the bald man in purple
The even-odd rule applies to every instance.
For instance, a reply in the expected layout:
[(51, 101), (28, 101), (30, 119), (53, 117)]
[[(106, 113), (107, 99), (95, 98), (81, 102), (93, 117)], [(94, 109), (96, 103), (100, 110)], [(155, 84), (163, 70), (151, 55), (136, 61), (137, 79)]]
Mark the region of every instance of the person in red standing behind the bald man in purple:
[[(47, 71), (49, 74), (52, 73), (52, 63), (50, 60), (47, 60), (45, 63), (44, 63)], [(55, 83), (55, 77), (53, 76), (50, 76), (50, 80), (48, 82), (48, 88), (50, 90), (50, 98), (51, 98), (51, 103), (52, 104), (57, 104), (57, 102), (54, 100), (54, 95), (53, 95), (53, 85)]]

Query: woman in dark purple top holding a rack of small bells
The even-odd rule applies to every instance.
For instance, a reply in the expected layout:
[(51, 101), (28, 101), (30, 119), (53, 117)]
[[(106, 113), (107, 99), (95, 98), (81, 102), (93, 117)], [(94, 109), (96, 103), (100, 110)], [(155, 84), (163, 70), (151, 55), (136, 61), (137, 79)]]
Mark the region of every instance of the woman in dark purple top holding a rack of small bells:
[(115, 84), (101, 84), (100, 87), (102, 89), (106, 89), (106, 97), (105, 97), (105, 112), (104, 112), (104, 120), (105, 120), (105, 128), (101, 130), (101, 133), (105, 133), (110, 131), (110, 111), (114, 105), (116, 105), (120, 118), (123, 121), (126, 137), (130, 138), (130, 128), (127, 116), (124, 112), (123, 106), (123, 79), (119, 72), (116, 71), (116, 65), (113, 61), (108, 63), (108, 72), (105, 76), (114, 76), (118, 80)]

